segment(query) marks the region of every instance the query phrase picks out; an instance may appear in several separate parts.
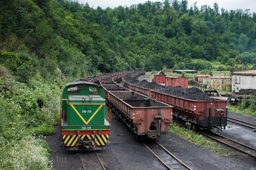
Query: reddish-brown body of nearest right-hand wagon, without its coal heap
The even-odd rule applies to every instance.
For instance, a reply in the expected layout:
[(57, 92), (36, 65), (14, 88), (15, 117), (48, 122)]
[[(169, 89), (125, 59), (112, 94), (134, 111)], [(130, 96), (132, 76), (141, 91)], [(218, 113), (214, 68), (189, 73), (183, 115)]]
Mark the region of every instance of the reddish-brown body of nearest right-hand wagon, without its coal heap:
[(189, 100), (168, 94), (150, 91), (150, 97), (174, 106), (173, 115), (192, 123), (193, 129), (225, 129), (228, 117), (227, 100)]

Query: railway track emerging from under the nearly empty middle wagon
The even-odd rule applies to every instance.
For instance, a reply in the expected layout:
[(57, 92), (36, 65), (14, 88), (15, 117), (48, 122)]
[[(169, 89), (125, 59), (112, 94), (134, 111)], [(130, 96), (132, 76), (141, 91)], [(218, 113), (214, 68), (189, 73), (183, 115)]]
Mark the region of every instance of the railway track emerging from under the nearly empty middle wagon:
[[(148, 145), (144, 144), (150, 152), (154, 154), (154, 156), (160, 160), (164, 166), (166, 166), (168, 169), (172, 170), (184, 170), (189, 169), (192, 170), (190, 167), (188, 167), (186, 164), (181, 162), (178, 158), (176, 158), (171, 152), (169, 152), (167, 149), (165, 149), (161, 144), (158, 142), (153, 142)], [(172, 167), (172, 168), (171, 168)]]

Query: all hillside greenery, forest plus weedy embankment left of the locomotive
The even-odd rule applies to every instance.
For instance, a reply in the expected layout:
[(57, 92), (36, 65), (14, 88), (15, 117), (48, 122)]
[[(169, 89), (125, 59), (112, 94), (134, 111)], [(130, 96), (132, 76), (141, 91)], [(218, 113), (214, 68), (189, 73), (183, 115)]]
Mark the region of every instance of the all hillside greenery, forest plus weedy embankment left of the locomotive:
[(256, 14), (217, 3), (93, 9), (68, 0), (1, 0), (0, 169), (52, 168), (41, 135), (59, 123), (67, 82), (152, 71), (154, 59), (155, 70), (246, 70), (256, 68), (255, 46)]

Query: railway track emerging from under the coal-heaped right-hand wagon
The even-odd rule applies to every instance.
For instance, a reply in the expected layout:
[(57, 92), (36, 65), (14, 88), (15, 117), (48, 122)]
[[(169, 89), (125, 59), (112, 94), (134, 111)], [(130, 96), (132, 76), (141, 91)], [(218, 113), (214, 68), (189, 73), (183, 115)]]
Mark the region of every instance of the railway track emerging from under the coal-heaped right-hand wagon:
[(256, 158), (256, 149), (255, 148), (252, 148), (252, 147), (250, 147), (248, 145), (245, 145), (245, 144), (242, 144), (242, 143), (240, 143), (236, 140), (230, 139), (228, 137), (224, 137), (224, 136), (222, 136), (218, 133), (214, 133), (214, 132), (211, 132), (211, 131), (209, 131), (208, 134), (205, 134), (205, 133), (202, 133), (202, 134), (204, 134), (207, 137), (211, 137), (212, 139), (217, 140), (217, 141), (219, 141), (223, 144), (226, 144), (226, 145), (228, 145), (228, 146), (230, 146), (230, 147), (232, 147), (232, 148), (234, 148), (234, 149), (236, 149), (240, 152), (243, 152), (247, 155), (250, 155), (250, 156)]

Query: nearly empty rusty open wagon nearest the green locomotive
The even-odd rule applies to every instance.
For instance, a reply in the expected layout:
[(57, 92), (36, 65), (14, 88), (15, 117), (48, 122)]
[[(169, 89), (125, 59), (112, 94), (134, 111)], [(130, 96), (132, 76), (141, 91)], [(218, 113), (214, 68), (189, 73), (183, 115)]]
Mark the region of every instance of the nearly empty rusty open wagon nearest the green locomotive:
[(108, 104), (141, 140), (168, 133), (173, 106), (131, 91), (108, 92)]

